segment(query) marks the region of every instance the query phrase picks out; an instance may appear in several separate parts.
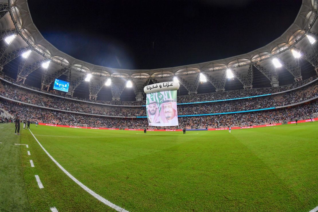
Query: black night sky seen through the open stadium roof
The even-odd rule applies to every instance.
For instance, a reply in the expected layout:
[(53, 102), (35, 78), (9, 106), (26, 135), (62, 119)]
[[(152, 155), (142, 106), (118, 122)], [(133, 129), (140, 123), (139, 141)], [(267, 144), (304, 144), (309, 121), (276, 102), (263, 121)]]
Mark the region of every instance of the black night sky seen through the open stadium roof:
[(301, 0), (29, 0), (28, 4), (39, 31), (59, 50), (96, 65), (152, 69), (262, 47), (294, 22)]

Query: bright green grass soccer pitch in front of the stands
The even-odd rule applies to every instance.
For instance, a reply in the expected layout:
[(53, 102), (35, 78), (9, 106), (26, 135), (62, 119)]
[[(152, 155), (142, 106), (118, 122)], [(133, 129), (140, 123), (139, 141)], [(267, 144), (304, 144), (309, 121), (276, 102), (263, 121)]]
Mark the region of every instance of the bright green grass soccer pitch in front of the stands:
[[(9, 129), (13, 124), (0, 126), (3, 133), (10, 131), (17, 139)], [(31, 125), (39, 143), (67, 172), (128, 211), (314, 209), (318, 205), (317, 129), (318, 122), (313, 122), (232, 133), (144, 134)], [(1, 141), (0, 153), (8, 154), (4, 150), (9, 145), (19, 151), (27, 210), (114, 210), (72, 181), (29, 131), (21, 131), (18, 141)], [(44, 188), (38, 187), (34, 175)], [(8, 209), (3, 204), (0, 209)]]

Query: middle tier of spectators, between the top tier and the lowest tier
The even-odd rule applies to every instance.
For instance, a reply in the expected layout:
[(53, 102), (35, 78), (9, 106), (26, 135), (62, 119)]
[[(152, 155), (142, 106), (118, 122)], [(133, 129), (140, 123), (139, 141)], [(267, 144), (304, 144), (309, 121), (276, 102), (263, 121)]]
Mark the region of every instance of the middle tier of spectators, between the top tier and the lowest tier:
[[(45, 95), (36, 91), (20, 88), (10, 83), (0, 82), (0, 95), (37, 106), (45, 106), (80, 113), (136, 117), (146, 116), (145, 107), (106, 106), (88, 102), (79, 102), (65, 98)], [(249, 98), (214, 103), (179, 105), (178, 115), (226, 113), (255, 110), (276, 106), (286, 106), (318, 96), (318, 81), (307, 86), (272, 96)]]

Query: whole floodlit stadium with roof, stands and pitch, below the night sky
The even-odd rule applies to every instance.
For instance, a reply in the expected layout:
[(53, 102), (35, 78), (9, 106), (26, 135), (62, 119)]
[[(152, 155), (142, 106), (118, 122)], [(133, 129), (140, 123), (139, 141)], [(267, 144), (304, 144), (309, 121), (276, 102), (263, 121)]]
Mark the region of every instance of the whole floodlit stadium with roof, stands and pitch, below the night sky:
[(76, 59), (0, 3), (1, 211), (318, 211), (316, 0), (261, 48), (157, 69)]

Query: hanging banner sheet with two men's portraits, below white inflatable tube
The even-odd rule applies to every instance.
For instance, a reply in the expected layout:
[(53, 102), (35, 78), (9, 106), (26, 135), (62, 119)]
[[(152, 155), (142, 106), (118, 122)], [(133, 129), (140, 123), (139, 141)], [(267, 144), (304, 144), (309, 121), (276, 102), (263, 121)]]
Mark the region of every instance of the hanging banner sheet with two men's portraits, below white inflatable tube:
[(149, 126), (177, 126), (177, 91), (147, 93), (146, 110)]

